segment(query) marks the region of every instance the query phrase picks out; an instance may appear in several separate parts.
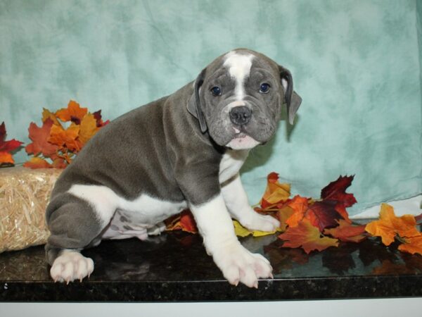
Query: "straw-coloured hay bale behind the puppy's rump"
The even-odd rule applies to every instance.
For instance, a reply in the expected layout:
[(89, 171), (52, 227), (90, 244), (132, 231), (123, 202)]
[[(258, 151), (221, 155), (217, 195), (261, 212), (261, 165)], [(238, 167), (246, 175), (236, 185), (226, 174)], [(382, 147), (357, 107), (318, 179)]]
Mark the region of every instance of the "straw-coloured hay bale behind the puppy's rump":
[(63, 170), (0, 168), (0, 252), (45, 244), (45, 210)]

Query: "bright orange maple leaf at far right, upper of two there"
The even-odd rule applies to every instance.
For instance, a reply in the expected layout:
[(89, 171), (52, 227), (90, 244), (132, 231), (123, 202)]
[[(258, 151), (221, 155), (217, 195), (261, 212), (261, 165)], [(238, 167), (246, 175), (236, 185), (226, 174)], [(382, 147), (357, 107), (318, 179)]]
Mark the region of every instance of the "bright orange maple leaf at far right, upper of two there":
[(416, 229), (414, 216), (396, 217), (394, 209), (388, 204), (381, 204), (380, 220), (368, 223), (365, 230), (371, 235), (381, 237), (383, 244), (387, 246), (394, 242), (396, 235), (409, 238), (421, 234)]

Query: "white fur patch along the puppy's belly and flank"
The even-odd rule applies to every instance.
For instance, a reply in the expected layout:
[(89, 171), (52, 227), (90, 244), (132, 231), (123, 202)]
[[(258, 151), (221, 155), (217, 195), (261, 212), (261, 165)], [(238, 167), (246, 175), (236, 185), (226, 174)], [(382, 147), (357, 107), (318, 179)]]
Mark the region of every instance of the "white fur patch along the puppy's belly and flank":
[(188, 206), (186, 201), (165, 201), (148, 194), (127, 200), (98, 185), (73, 185), (68, 192), (93, 206), (97, 219), (107, 228), (104, 239), (146, 238), (157, 224)]

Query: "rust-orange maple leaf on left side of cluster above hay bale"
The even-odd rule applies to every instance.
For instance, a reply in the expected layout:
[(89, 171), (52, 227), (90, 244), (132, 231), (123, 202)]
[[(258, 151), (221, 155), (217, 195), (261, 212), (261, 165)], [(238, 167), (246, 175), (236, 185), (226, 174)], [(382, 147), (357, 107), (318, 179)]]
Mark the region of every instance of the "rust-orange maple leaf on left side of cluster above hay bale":
[(30, 123), (30, 128), (28, 128), (28, 132), (30, 132), (30, 139), (32, 143), (28, 144), (25, 147), (25, 151), (27, 154), (34, 154), (37, 156), (38, 154), (42, 154), (46, 157), (51, 157), (54, 159), (56, 157), (56, 152), (58, 150), (58, 146), (56, 144), (51, 144), (48, 139), (50, 137), (51, 127), (53, 126), (53, 120), (50, 118), (46, 118), (42, 127), (39, 128), (35, 123)]

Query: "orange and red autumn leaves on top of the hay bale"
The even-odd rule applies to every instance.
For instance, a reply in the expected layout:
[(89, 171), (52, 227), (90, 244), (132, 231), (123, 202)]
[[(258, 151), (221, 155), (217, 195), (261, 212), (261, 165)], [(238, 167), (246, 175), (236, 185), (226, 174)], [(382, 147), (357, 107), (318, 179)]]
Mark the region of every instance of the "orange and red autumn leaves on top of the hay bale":
[[(89, 113), (76, 101), (69, 101), (67, 108), (52, 113), (46, 108), (42, 112), (42, 125), (30, 123), (29, 137), (32, 143), (25, 147), (30, 160), (23, 166), (28, 168), (65, 168), (75, 155), (98, 130), (109, 123), (103, 122), (101, 110)], [(6, 141), (6, 127), (0, 125), (0, 166), (13, 166), (12, 152), (23, 142)]]

